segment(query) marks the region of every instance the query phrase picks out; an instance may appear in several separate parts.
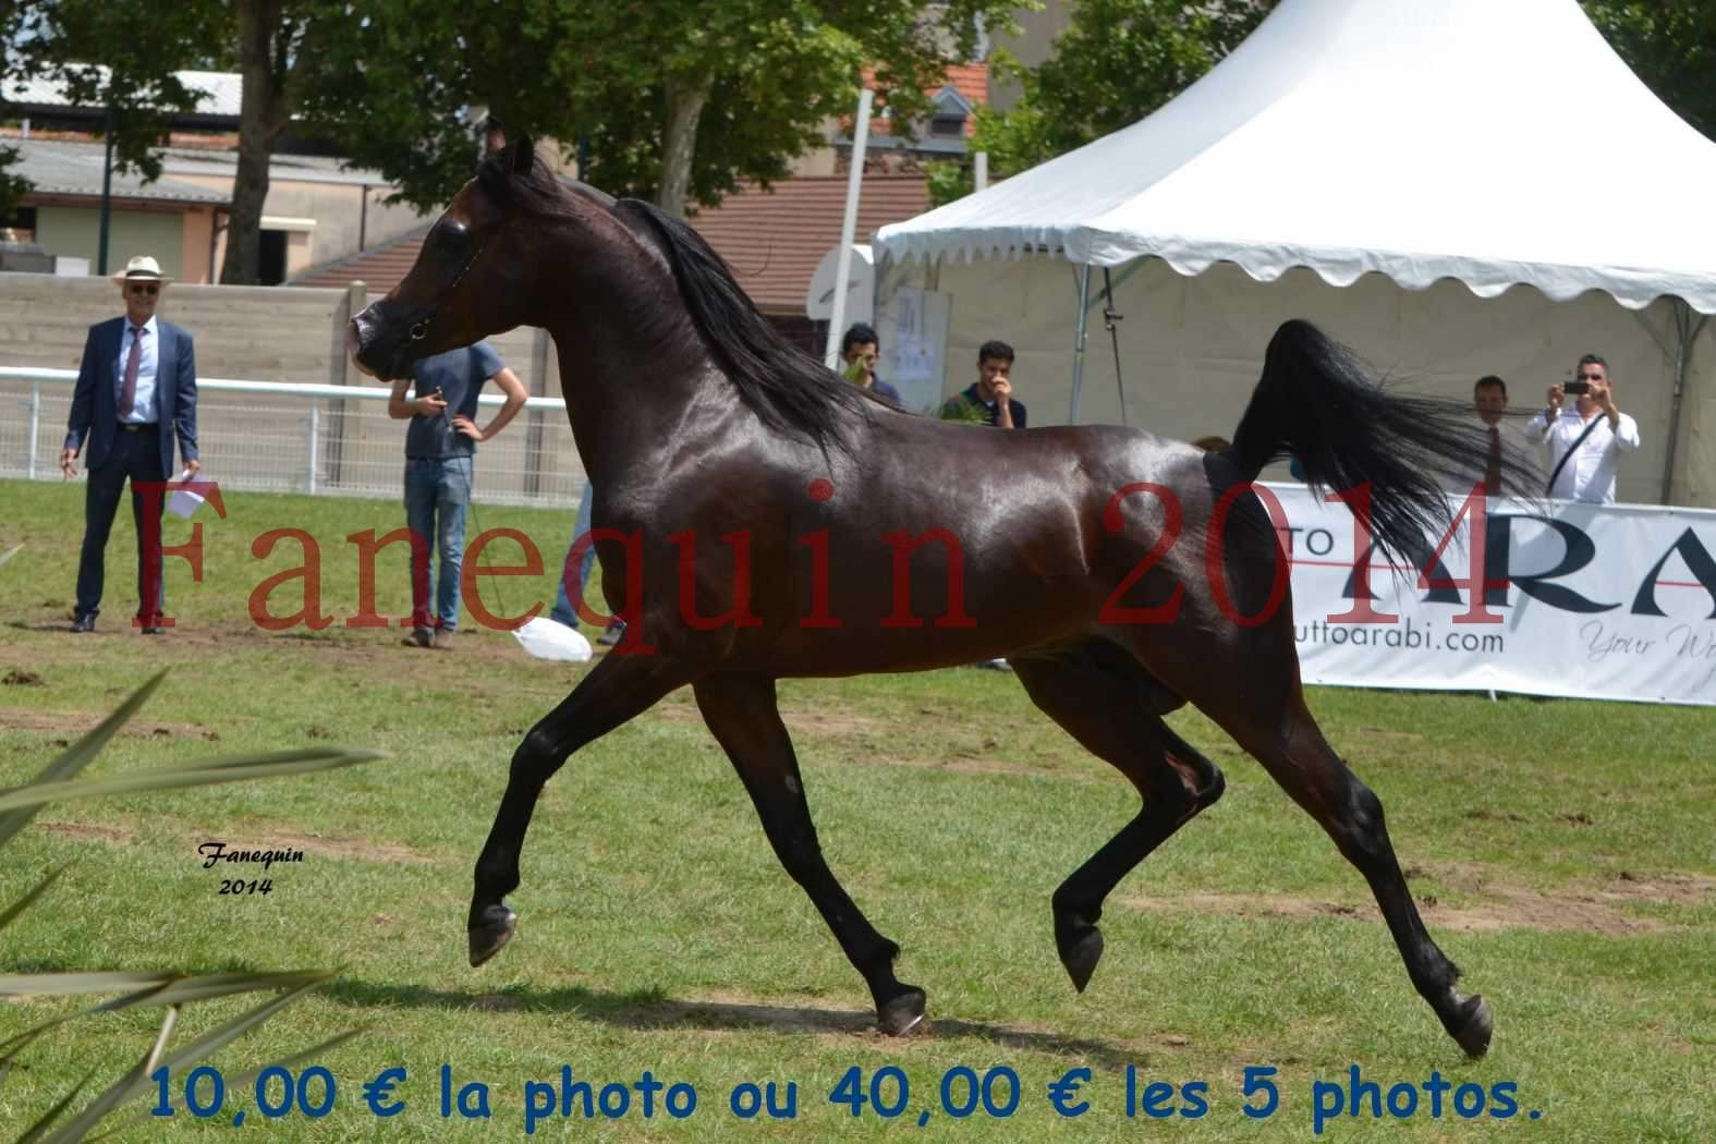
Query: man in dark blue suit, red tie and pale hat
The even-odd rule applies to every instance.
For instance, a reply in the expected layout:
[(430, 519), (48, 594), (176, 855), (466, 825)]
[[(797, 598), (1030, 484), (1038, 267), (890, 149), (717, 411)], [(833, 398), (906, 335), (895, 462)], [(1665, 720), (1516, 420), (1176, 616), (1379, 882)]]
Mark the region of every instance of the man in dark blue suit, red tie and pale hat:
[[(151, 257), (134, 257), (115, 274), (125, 298), (125, 316), (96, 322), (84, 341), (84, 358), (72, 393), (72, 415), (60, 451), (60, 472), (77, 475), (84, 455), (89, 484), (84, 491), (84, 549), (77, 561), (77, 607), (72, 631), (94, 631), (101, 611), (106, 539), (113, 528), (125, 479), (130, 479), (130, 516), (137, 525), (137, 619), (142, 635), (161, 635), (161, 506), (163, 482), (173, 475), (173, 437), (185, 468), (197, 460), (197, 358), (190, 334), (154, 316), (170, 281)], [(161, 485), (144, 497), (139, 485)], [(144, 528), (144, 515), (154, 516)], [(153, 535), (151, 535), (153, 533)], [(153, 544), (144, 544), (149, 539)]]

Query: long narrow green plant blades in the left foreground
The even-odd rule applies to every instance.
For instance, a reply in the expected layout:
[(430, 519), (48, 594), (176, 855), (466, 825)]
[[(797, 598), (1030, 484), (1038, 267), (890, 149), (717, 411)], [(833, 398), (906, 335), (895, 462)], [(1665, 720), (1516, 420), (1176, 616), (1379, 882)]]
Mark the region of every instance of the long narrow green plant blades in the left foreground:
[[(165, 672), (154, 676), (137, 688), (118, 710), (101, 724), (60, 753), (34, 780), (0, 791), (0, 849), (5, 847), (46, 803), (63, 803), (70, 799), (105, 798), (113, 794), (136, 794), (139, 791), (170, 791), (185, 787), (206, 787), (223, 782), (242, 782), (249, 779), (271, 779), (281, 775), (312, 774), (335, 767), (379, 758), (367, 751), (288, 751), (245, 758), (227, 758), (199, 762), (178, 767), (158, 767), (153, 770), (127, 772), (108, 779), (77, 780), (76, 775), (88, 767), (101, 748), (118, 734), (120, 727), (130, 720), (142, 707), (144, 700), (160, 686)], [(65, 868), (60, 866), (45, 875), (24, 897), (5, 911), (0, 911), (0, 930), (15, 923), (31, 906), (46, 897), (58, 882)], [(172, 971), (110, 971), (110, 972), (22, 972), (0, 974), (0, 998), (29, 996), (77, 996), (89, 993), (118, 993), (120, 996), (88, 1010), (74, 1010), (24, 1029), (0, 1041), (0, 1086), (3, 1086), (9, 1069), (19, 1055), (38, 1038), (55, 1027), (91, 1017), (96, 1014), (113, 1014), (130, 1009), (163, 1009), (160, 1034), (149, 1051), (117, 1082), (110, 1084), (81, 1110), (65, 1117), (91, 1077), (67, 1093), (51, 1108), (41, 1113), (29, 1125), (21, 1139), (69, 1142), (81, 1141), (110, 1111), (129, 1099), (141, 1096), (149, 1087), (149, 1074), (165, 1065), (175, 1072), (194, 1065), (204, 1057), (225, 1048), (251, 1029), (261, 1026), (271, 1015), (295, 1002), (299, 996), (316, 988), (333, 976), (331, 971), (295, 971), (295, 972), (218, 972), (218, 974), (182, 974)], [(185, 1005), (209, 1002), (244, 993), (273, 993), (273, 996), (249, 1012), (214, 1026), (192, 1041), (173, 1048), (170, 1045), (173, 1026)], [(311, 1050), (324, 1051), (348, 1038), (355, 1031), (343, 1033)], [(63, 1122), (60, 1118), (65, 1117)], [(57, 1127), (55, 1127), (57, 1125)]]

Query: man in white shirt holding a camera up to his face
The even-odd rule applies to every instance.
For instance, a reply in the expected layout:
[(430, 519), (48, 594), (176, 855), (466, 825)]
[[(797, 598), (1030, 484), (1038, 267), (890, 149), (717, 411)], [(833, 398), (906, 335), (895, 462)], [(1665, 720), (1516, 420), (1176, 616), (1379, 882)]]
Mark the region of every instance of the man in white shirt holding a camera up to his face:
[[(1563, 408), (1565, 396), (1574, 408)], [(1620, 455), (1639, 448), (1639, 422), (1615, 405), (1608, 364), (1596, 353), (1579, 358), (1574, 381), (1550, 386), (1550, 405), (1526, 422), (1526, 436), (1550, 446), (1551, 497), (1615, 503)]]

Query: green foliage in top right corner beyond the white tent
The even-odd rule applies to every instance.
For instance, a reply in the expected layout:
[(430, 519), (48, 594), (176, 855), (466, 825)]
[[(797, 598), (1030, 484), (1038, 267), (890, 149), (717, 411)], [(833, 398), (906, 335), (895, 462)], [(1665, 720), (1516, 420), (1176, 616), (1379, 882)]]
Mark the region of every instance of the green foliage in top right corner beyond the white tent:
[(1582, 0), (1586, 15), (1639, 79), (1716, 139), (1716, 0)]

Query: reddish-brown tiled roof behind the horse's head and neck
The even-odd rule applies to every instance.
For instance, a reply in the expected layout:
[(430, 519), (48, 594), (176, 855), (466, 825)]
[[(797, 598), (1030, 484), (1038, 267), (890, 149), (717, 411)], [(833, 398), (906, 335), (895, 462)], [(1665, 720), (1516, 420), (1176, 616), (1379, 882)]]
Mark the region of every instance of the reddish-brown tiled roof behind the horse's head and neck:
[[(887, 225), (928, 209), (923, 175), (872, 175), (858, 201), (856, 242)], [(774, 190), (745, 187), (716, 209), (692, 218), (692, 226), (733, 268), (745, 293), (764, 310), (803, 314), (805, 292), (817, 262), (841, 240), (846, 177), (803, 177), (777, 182)], [(345, 286), (364, 281), (371, 293), (393, 290), (417, 261), (429, 226), (386, 245), (312, 268), (293, 286)]]

